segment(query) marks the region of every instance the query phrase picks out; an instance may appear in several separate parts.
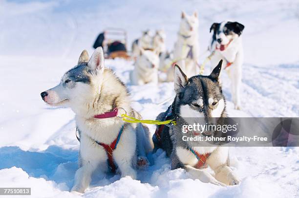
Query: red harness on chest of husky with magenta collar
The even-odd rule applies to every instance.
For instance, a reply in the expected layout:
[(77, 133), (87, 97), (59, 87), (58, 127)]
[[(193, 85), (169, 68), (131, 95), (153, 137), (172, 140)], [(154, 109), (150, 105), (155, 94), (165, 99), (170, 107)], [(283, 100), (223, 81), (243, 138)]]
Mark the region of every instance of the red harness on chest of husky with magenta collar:
[(102, 142), (98, 142), (95, 140), (95, 142), (98, 145), (102, 146), (105, 149), (106, 154), (108, 156), (108, 159), (107, 159), (108, 166), (109, 166), (110, 172), (112, 172), (112, 173), (116, 172), (116, 165), (113, 160), (113, 151), (116, 149), (116, 146), (119, 142), (119, 139), (120, 139), (123, 131), (124, 131), (124, 125), (122, 126), (121, 130), (118, 132), (116, 139), (111, 144), (104, 144)]

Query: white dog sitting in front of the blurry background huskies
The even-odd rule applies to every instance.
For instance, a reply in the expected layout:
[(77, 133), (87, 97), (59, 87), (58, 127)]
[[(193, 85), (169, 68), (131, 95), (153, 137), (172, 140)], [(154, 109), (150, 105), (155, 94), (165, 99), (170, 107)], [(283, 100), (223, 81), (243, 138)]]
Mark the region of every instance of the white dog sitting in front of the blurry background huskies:
[(159, 57), (157, 52), (141, 48), (134, 65), (135, 67), (130, 73), (132, 85), (158, 83)]

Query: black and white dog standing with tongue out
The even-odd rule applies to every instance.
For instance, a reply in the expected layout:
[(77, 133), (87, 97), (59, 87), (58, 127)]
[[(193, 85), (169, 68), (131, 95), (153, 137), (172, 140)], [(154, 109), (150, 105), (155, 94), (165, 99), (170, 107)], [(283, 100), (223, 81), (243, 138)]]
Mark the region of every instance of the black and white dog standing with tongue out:
[(223, 69), (227, 70), (231, 79), (232, 100), (235, 109), (240, 109), (240, 86), (242, 79), (243, 45), (242, 31), (244, 25), (238, 22), (224, 21), (213, 23), (210, 32), (213, 37), (209, 50), (214, 51), (211, 65), (215, 66), (223, 59)]

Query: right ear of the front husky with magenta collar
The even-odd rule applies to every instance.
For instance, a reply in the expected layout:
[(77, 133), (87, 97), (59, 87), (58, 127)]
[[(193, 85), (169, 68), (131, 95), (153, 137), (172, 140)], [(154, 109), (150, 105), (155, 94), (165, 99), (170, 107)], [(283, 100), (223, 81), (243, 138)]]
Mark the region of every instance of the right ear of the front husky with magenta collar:
[(88, 62), (88, 66), (91, 67), (95, 73), (103, 73), (105, 65), (104, 65), (104, 52), (102, 47), (97, 47), (93, 54), (91, 55), (91, 58)]

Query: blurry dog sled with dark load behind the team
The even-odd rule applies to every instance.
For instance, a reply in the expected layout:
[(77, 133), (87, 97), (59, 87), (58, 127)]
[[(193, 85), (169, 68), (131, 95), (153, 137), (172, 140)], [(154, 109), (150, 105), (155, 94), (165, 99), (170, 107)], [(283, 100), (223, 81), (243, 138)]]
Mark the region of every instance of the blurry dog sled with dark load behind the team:
[(100, 33), (93, 44), (94, 48), (99, 46), (103, 47), (107, 59), (130, 59), (127, 50), (127, 32), (122, 28), (110, 27)]

